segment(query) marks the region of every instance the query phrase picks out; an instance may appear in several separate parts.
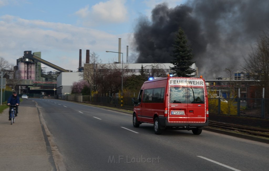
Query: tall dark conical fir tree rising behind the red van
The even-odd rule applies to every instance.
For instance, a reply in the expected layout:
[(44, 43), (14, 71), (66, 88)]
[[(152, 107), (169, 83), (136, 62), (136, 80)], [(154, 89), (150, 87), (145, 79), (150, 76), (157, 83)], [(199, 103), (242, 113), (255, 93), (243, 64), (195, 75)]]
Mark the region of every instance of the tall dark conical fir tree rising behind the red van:
[(196, 70), (192, 68), (193, 54), (190, 45), (187, 45), (187, 37), (180, 27), (178, 33), (176, 33), (175, 44), (173, 44), (174, 50), (171, 64), (174, 67), (170, 67), (173, 70), (173, 74), (180, 77), (192, 77)]

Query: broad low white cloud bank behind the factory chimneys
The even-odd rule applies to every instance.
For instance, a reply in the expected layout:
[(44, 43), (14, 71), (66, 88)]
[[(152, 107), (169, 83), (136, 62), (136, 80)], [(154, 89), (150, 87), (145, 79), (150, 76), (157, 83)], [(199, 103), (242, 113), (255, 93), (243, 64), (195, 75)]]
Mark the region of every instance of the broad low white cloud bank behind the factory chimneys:
[(41, 51), (44, 60), (76, 71), (79, 49), (82, 49), (83, 56), (86, 55), (86, 49), (90, 49), (90, 53), (94, 51), (106, 63), (114, 56), (105, 51), (117, 50), (118, 38), (122, 38), (122, 52), (125, 53), (124, 46), (128, 45), (128, 36), (128, 34), (113, 35), (96, 29), (5, 15), (0, 18), (0, 57), (16, 64), (16, 60), (23, 56), (24, 51), (30, 50), (32, 53)]

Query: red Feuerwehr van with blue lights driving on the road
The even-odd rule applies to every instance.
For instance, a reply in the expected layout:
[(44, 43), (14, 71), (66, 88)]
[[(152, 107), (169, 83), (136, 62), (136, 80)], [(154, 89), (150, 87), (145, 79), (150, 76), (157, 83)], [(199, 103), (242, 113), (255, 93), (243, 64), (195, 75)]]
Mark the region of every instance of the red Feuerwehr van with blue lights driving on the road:
[(137, 99), (132, 99), (133, 126), (152, 123), (155, 134), (161, 134), (166, 128), (201, 134), (209, 120), (206, 84), (200, 77), (145, 81)]

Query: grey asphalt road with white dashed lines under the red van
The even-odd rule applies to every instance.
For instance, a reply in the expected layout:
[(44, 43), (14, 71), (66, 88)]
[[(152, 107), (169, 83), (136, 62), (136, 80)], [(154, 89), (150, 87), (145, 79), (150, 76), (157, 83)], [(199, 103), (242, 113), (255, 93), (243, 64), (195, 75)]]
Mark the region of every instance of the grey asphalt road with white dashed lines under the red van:
[(268, 144), (205, 131), (132, 126), (132, 115), (34, 99), (66, 170), (268, 170)]

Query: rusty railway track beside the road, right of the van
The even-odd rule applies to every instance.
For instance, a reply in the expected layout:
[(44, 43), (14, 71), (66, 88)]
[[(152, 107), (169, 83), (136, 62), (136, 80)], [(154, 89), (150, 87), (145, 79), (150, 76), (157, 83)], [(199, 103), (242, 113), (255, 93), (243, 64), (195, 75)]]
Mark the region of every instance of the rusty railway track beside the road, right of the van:
[(226, 123), (220, 123), (220, 122), (214, 122), (214, 121), (209, 121), (209, 126), (222, 128), (226, 130), (227, 129), (235, 130), (235, 131), (244, 132), (251, 135), (269, 138), (269, 130), (266, 130), (266, 129), (246, 127), (246, 126), (235, 125), (235, 124), (226, 124)]

